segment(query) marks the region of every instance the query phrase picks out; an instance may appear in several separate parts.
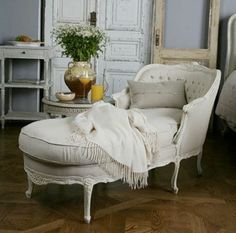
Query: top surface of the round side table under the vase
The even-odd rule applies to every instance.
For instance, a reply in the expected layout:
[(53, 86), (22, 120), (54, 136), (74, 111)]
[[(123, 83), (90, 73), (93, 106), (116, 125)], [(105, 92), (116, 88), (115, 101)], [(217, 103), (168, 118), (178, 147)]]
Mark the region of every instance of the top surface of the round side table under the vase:
[[(103, 98), (103, 101), (111, 104), (115, 103), (114, 99), (112, 99), (110, 96), (105, 96)], [(42, 102), (47, 105), (57, 106), (62, 108), (90, 108), (93, 104), (89, 100), (84, 101), (80, 98), (76, 98), (69, 101), (61, 101), (58, 100), (55, 96), (44, 97), (42, 99)]]

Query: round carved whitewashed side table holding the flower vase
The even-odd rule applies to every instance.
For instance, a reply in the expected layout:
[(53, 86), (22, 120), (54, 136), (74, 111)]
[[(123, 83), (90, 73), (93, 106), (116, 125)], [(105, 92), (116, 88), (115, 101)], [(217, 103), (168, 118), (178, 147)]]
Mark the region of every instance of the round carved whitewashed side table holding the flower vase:
[[(111, 97), (104, 97), (104, 102), (114, 104)], [(71, 101), (59, 101), (56, 97), (44, 97), (42, 99), (44, 112), (47, 113), (48, 118), (66, 117), (74, 114), (84, 112), (92, 107), (92, 103), (82, 103), (80, 99)]]

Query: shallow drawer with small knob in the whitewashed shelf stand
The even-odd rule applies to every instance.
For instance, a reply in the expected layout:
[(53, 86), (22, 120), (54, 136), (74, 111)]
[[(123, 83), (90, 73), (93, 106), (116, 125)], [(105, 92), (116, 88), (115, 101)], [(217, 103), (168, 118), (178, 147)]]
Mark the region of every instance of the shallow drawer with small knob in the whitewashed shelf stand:
[(43, 59), (45, 57), (44, 50), (28, 50), (27, 48), (6, 49), (4, 50), (6, 58), (25, 58), (25, 59)]

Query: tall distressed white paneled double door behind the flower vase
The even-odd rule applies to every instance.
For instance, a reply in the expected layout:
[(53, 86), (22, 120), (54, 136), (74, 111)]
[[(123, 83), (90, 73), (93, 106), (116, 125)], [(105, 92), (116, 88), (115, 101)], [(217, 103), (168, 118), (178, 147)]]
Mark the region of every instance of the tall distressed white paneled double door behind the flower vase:
[(96, 12), (96, 24), (104, 29), (104, 52), (93, 62), (97, 79), (105, 78), (108, 94), (120, 91), (136, 72), (150, 63), (152, 0), (47, 0), (45, 1), (45, 43), (55, 46), (52, 61), (53, 90), (65, 91), (64, 71), (69, 62), (61, 57), (51, 31), (60, 24), (89, 24)]

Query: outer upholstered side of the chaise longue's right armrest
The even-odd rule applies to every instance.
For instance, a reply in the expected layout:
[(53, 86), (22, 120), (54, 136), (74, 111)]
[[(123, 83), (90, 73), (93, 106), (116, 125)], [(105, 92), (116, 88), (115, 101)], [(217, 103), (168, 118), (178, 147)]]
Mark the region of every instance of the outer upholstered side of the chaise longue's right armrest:
[(202, 150), (219, 84), (220, 77), (203, 97), (184, 105), (180, 127), (173, 140), (180, 156), (196, 155)]

